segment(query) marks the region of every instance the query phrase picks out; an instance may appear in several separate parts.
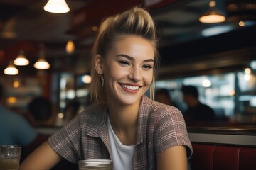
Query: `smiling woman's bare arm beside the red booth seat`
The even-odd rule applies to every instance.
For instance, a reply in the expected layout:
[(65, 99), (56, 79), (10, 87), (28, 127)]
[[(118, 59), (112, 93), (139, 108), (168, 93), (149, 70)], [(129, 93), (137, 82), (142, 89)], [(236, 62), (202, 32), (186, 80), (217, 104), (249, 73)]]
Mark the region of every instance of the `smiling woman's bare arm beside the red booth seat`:
[(170, 147), (157, 157), (157, 170), (187, 170), (186, 147)]

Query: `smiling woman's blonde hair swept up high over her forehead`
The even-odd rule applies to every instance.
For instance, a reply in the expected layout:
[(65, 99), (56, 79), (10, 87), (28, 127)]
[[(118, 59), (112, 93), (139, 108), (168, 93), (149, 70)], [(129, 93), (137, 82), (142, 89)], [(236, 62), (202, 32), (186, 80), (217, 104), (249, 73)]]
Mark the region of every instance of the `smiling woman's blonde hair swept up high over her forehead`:
[(106, 103), (105, 86), (102, 86), (100, 75), (97, 73), (94, 60), (96, 55), (105, 57), (118, 40), (129, 35), (137, 35), (151, 42), (154, 47), (154, 75), (150, 86), (150, 98), (154, 100), (154, 88), (157, 70), (159, 67), (159, 54), (156, 43), (156, 27), (153, 19), (146, 9), (135, 6), (124, 13), (111, 16), (102, 21), (92, 47), (92, 82), (90, 85), (92, 103)]

